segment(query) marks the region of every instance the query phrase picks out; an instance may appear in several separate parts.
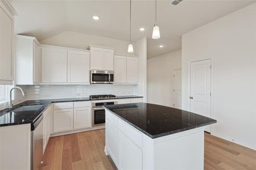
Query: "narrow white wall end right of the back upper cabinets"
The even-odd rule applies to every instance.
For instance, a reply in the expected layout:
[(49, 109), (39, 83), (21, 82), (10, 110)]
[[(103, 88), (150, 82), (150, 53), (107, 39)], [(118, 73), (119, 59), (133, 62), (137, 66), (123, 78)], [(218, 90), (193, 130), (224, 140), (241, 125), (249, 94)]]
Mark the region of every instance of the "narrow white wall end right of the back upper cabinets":
[(142, 37), (134, 43), (134, 51), (139, 56), (139, 82), (135, 87), (135, 94), (147, 101), (147, 38)]

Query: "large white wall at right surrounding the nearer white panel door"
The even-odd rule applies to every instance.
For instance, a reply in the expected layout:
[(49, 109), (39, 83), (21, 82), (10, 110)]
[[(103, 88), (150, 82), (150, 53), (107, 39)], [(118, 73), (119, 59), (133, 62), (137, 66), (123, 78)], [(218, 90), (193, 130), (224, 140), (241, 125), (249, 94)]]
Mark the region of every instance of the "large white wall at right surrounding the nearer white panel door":
[(256, 149), (256, 3), (182, 36), (182, 108), (189, 61), (212, 58), (212, 134)]

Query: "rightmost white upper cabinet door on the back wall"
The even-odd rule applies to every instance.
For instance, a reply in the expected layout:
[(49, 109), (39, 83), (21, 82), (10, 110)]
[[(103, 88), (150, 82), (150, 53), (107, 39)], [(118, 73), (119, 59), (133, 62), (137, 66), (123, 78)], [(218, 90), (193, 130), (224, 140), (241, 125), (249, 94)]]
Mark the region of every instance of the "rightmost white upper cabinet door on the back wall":
[(138, 58), (127, 57), (127, 83), (138, 83)]

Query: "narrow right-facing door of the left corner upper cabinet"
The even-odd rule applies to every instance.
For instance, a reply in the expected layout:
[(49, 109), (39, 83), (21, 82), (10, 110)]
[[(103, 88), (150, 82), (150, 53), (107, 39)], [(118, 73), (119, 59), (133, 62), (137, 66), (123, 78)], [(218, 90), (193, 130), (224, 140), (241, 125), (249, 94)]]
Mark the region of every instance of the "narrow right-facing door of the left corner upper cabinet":
[(41, 48), (34, 42), (34, 66), (33, 66), (34, 83), (41, 82)]

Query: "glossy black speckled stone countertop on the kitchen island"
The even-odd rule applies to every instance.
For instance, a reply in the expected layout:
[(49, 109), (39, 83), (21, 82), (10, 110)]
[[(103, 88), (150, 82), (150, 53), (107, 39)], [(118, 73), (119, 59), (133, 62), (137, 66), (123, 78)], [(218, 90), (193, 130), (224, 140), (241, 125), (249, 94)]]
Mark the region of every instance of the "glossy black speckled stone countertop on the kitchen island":
[(149, 103), (104, 107), (152, 139), (217, 122), (200, 114)]

